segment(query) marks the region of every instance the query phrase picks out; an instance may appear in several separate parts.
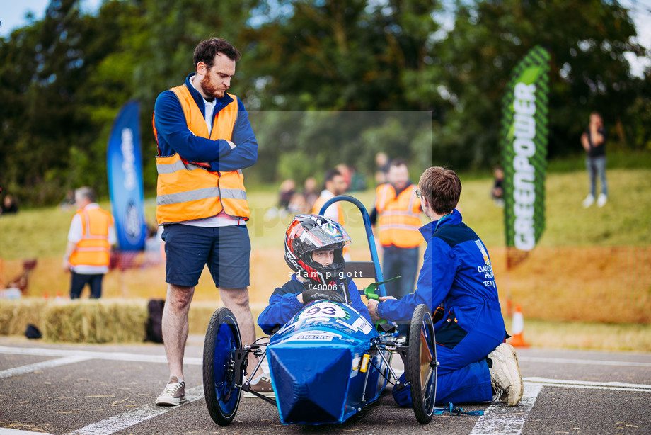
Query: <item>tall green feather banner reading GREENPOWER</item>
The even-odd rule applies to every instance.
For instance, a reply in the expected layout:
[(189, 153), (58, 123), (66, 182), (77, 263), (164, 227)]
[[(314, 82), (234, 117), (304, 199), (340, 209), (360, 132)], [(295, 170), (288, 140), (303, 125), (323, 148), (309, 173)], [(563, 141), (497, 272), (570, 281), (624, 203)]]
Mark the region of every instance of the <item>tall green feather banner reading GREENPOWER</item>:
[(548, 94), (549, 53), (536, 46), (513, 71), (500, 135), (506, 245), (519, 251), (534, 249), (545, 229)]

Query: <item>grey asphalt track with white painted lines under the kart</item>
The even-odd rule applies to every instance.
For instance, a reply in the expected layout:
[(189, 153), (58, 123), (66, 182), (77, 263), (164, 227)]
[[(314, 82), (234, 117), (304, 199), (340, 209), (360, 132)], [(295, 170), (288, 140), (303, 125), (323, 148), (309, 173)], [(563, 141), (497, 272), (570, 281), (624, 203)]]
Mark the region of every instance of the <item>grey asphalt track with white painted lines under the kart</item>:
[[(47, 344), (0, 337), (0, 435), (59, 434), (651, 434), (651, 354), (518, 349), (525, 393), (518, 407), (461, 404), (417, 423), (391, 395), (343, 424), (284, 426), (277, 409), (243, 398), (217, 426), (202, 389), (202, 337), (185, 351), (188, 402), (156, 407), (167, 380), (159, 344)], [(399, 358), (395, 358), (396, 361)]]

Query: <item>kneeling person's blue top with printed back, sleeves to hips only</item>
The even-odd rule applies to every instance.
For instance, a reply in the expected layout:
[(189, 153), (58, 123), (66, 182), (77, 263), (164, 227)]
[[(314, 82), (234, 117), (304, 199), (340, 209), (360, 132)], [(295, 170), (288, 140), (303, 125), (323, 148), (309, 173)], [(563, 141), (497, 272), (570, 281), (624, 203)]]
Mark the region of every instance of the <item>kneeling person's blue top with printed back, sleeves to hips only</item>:
[(497, 297), (488, 250), (478, 235), (454, 210), (420, 228), (427, 241), (416, 290), (401, 300), (377, 306), (380, 317), (408, 321), (415, 307), (426, 304), (431, 312), (443, 304), (445, 316), (434, 325), (437, 343), (454, 347), (466, 334), (480, 331), (497, 343), (505, 337), (504, 319)]

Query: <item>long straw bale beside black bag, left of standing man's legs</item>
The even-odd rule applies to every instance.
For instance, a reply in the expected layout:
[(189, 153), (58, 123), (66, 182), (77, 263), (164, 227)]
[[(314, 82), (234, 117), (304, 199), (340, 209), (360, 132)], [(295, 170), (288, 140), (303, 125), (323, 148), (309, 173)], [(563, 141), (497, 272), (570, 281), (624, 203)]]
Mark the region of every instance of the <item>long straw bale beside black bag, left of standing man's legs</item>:
[(43, 338), (71, 343), (143, 341), (147, 320), (142, 300), (70, 300), (50, 304)]

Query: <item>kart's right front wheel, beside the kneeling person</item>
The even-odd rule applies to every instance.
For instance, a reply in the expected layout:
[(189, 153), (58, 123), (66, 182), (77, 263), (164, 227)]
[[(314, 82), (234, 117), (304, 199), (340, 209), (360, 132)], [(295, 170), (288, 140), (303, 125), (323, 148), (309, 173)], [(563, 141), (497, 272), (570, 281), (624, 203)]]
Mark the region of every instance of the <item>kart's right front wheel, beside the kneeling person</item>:
[(420, 424), (427, 424), (437, 395), (437, 349), (432, 314), (425, 304), (418, 305), (411, 318), (406, 369), (414, 414)]

